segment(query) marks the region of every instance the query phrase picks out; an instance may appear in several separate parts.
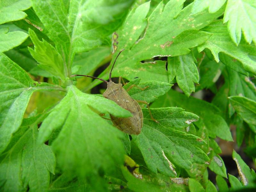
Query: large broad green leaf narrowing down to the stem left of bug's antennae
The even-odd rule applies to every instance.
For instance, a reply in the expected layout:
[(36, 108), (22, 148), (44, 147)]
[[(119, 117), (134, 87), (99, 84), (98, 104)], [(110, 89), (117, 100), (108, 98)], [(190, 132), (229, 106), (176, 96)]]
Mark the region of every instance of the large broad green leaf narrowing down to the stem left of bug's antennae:
[(102, 44), (102, 39), (120, 26), (132, 2), (32, 0), (32, 5), (49, 31), (48, 36), (65, 61), (70, 76), (75, 53), (89, 51)]

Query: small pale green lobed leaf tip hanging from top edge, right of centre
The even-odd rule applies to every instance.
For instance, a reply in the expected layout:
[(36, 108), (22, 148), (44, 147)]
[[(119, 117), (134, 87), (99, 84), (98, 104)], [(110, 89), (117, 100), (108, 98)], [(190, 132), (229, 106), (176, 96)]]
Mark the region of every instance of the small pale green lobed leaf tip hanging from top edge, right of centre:
[(192, 13), (199, 13), (208, 8), (210, 13), (218, 11), (226, 0), (195, 0), (192, 8)]

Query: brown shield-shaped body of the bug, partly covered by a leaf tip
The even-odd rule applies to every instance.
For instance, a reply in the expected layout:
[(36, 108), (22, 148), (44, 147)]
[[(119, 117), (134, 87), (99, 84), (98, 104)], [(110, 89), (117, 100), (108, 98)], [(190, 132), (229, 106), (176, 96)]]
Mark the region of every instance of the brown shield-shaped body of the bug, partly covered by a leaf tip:
[(130, 97), (124, 90), (122, 84), (115, 84), (112, 81), (108, 82), (108, 88), (103, 93), (103, 96), (109, 100), (116, 102), (122, 108), (130, 111), (132, 117), (118, 118), (110, 115), (113, 124), (121, 131), (128, 134), (140, 134), (143, 126), (143, 114), (140, 105)]

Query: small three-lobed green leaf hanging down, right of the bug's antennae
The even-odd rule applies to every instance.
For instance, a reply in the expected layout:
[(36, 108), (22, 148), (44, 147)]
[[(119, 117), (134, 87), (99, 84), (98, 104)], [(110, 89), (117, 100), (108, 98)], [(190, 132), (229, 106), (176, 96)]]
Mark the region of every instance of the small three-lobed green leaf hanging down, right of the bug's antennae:
[(169, 82), (176, 76), (180, 89), (189, 96), (195, 92), (194, 83), (198, 83), (199, 74), (191, 54), (168, 57)]

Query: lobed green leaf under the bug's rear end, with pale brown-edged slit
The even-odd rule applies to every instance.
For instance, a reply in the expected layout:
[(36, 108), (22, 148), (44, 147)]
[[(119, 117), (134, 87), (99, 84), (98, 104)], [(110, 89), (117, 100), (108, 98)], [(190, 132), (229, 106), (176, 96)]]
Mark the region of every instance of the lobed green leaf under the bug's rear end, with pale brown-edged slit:
[(184, 130), (197, 119), (194, 114), (183, 117), (185, 119), (176, 119), (175, 113), (178, 110), (151, 108), (153, 117), (159, 121), (158, 124), (150, 118), (148, 110), (143, 108), (144, 121), (141, 133), (138, 136), (132, 135), (132, 140), (140, 149), (148, 168), (154, 173), (158, 171), (168, 176), (176, 176), (173, 164), (191, 168), (194, 162), (205, 164), (209, 160), (199, 148), (205, 144), (201, 138), (175, 130), (176, 127)]

